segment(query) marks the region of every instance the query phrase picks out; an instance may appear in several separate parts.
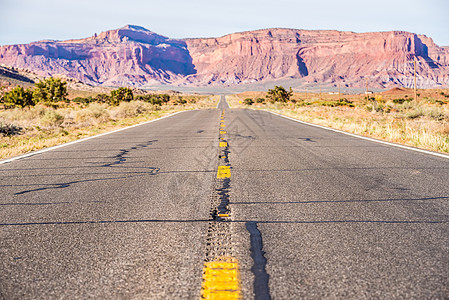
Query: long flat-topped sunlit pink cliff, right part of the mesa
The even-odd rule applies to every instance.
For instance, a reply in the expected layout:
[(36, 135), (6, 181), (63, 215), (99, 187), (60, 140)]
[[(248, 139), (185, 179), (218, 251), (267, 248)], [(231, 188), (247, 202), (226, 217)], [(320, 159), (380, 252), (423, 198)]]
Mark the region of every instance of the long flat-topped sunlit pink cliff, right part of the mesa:
[(408, 32), (353, 33), (267, 29), (217, 39), (187, 40), (200, 84), (232, 84), (278, 78), (377, 87), (410, 86), (413, 58), (421, 86), (449, 83), (449, 52)]

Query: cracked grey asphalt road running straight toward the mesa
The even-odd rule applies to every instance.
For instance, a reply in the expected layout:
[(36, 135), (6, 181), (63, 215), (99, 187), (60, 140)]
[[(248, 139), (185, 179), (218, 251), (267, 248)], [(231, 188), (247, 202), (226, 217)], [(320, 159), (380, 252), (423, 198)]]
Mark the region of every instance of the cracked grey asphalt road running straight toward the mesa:
[(0, 165), (0, 299), (198, 299), (219, 141), (244, 299), (449, 298), (449, 159), (218, 108)]

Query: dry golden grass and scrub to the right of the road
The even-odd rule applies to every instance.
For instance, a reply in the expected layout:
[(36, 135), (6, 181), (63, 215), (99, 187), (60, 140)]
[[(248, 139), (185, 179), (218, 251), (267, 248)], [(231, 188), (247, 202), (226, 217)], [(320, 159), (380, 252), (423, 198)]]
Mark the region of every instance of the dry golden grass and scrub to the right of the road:
[(399, 88), (369, 95), (292, 93), (287, 101), (273, 99), (272, 93), (246, 92), (228, 99), (232, 107), (266, 109), (363, 136), (449, 153), (448, 90), (418, 90), (417, 100), (413, 90)]

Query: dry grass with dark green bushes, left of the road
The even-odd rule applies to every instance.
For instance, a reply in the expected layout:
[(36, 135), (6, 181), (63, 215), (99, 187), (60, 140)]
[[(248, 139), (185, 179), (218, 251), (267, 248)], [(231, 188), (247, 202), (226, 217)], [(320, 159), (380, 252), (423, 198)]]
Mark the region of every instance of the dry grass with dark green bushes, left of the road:
[(0, 159), (138, 124), (195, 108), (212, 108), (218, 97), (142, 93), (130, 88), (69, 99), (63, 80), (0, 94)]

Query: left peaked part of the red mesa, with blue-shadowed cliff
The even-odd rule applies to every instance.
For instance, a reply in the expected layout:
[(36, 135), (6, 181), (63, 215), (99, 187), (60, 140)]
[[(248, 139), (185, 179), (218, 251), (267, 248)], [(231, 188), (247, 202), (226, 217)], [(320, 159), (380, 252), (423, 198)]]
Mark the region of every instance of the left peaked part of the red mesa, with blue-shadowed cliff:
[(169, 83), (195, 73), (185, 42), (130, 25), (81, 40), (2, 46), (0, 63), (111, 86)]

